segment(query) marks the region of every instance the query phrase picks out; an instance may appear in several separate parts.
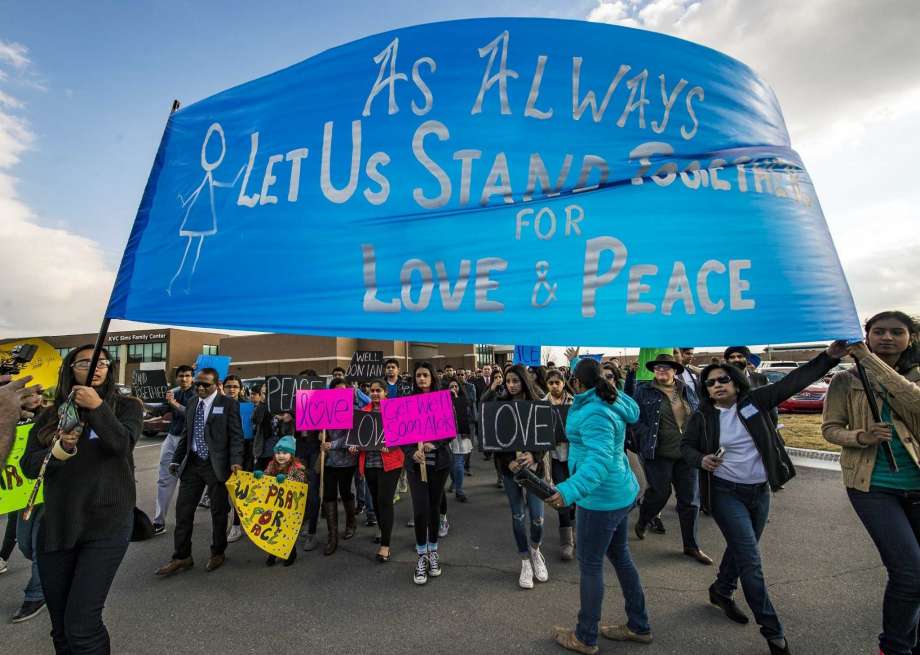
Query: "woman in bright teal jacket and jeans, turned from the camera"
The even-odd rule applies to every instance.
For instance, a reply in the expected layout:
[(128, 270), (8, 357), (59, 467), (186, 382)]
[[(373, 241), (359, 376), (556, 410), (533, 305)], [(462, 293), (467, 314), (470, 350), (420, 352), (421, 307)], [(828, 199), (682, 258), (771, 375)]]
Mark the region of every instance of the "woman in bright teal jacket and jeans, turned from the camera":
[(626, 600), (626, 625), (600, 628), (615, 641), (649, 643), (652, 630), (645, 611), (645, 593), (629, 554), (627, 517), (636, 503), (639, 482), (629, 467), (624, 441), (626, 425), (639, 420), (639, 406), (601, 375), (598, 363), (583, 359), (575, 368), (577, 395), (569, 408), (569, 479), (547, 503), (560, 509), (574, 503), (581, 569), (581, 611), (574, 630), (553, 629), (556, 642), (576, 653), (598, 652), (597, 634), (604, 600), (604, 555), (616, 570)]

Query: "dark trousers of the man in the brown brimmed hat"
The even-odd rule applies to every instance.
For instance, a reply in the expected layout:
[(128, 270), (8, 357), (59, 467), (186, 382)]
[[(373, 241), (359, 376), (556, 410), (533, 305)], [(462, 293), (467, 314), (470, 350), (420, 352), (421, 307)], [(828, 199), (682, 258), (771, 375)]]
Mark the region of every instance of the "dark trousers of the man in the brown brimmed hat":
[(682, 459), (656, 457), (644, 462), (648, 489), (639, 511), (639, 523), (647, 525), (671, 498), (671, 487), (677, 494), (677, 516), (684, 548), (699, 549), (697, 523), (700, 515), (699, 470)]

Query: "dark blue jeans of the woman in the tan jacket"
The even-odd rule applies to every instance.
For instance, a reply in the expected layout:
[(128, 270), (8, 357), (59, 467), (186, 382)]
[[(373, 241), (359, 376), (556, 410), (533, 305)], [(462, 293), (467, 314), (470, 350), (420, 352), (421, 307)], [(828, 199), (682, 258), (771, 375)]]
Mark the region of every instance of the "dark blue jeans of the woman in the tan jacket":
[(872, 487), (847, 495), (888, 571), (879, 648), (885, 655), (920, 653), (920, 493)]

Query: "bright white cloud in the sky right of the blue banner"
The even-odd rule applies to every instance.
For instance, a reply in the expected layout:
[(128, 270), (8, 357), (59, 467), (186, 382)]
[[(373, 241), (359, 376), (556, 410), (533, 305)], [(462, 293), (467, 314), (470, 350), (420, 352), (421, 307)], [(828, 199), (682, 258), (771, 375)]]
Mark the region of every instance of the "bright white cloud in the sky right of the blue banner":
[(588, 18), (688, 39), (756, 70), (783, 107), (860, 314), (920, 313), (918, 287), (905, 282), (920, 272), (911, 264), (920, 194), (909, 179), (920, 2), (598, 0)]

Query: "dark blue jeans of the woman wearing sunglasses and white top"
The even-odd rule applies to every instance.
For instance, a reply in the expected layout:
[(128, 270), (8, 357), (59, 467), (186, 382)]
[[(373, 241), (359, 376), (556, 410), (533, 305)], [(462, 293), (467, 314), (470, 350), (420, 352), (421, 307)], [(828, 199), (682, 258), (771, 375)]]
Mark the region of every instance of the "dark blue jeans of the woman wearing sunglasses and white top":
[(741, 579), (744, 599), (767, 639), (783, 639), (763, 578), (758, 542), (770, 515), (770, 486), (737, 484), (713, 476), (712, 517), (725, 537), (725, 554), (715, 582), (716, 593), (731, 598)]

